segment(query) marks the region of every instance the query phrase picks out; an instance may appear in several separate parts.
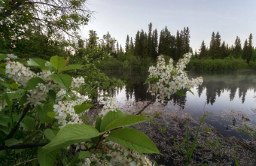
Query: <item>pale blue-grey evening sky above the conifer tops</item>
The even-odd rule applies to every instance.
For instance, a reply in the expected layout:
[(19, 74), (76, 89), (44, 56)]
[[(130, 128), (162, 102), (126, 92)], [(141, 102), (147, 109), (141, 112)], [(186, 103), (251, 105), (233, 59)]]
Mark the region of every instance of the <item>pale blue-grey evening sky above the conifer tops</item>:
[(166, 26), (171, 35), (188, 27), (190, 47), (197, 51), (202, 41), (209, 47), (212, 32), (229, 45), (239, 36), (242, 46), (251, 33), (256, 46), (255, 0), (89, 0), (87, 8), (95, 13), (82, 29), (84, 39), (93, 29), (99, 38), (109, 32), (124, 46), (127, 35), (134, 40), (138, 30), (148, 33), (152, 23), (158, 35)]

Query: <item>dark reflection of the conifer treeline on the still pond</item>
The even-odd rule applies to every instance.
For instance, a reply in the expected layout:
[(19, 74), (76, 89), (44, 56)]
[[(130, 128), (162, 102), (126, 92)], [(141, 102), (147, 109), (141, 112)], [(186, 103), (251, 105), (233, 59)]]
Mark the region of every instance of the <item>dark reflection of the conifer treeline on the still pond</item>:
[[(108, 77), (115, 77), (117, 79), (124, 80), (126, 86), (125, 89), (126, 101), (149, 101), (152, 96), (147, 92), (148, 85), (143, 85), (148, 77), (148, 72), (124, 72), (114, 71), (105, 72)], [(217, 98), (221, 98), (221, 95), (229, 95), (230, 101), (233, 101), (238, 93), (238, 97), (242, 104), (245, 103), (245, 96), (248, 91), (250, 92), (249, 98), (253, 97), (256, 91), (256, 73), (255, 71), (213, 71), (213, 72), (194, 72), (190, 71), (188, 77), (203, 77), (203, 84), (197, 86), (193, 91), (198, 97), (206, 95), (207, 104), (213, 105)], [(118, 94), (117, 92), (111, 92), (111, 95)], [(205, 92), (205, 94), (203, 94)], [(184, 93), (190, 93), (184, 91)], [(187, 94), (188, 95), (188, 94)], [(185, 105), (187, 102), (187, 96), (181, 97), (178, 95), (172, 95), (171, 99), (174, 104)]]

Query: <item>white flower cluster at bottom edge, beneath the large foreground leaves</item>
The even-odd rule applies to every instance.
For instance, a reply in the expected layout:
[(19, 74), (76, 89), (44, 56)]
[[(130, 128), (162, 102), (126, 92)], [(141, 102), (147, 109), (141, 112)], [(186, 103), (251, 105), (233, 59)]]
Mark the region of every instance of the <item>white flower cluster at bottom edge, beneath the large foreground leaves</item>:
[[(91, 163), (96, 163), (95, 165), (154, 166), (147, 155), (128, 149), (124, 146), (120, 146), (119, 144), (111, 141), (104, 143), (103, 152), (103, 160), (100, 159), (101, 156), (91, 155), (90, 157), (84, 158), (84, 161), (78, 165), (89, 166)], [(111, 160), (106, 160), (106, 156), (111, 157)]]

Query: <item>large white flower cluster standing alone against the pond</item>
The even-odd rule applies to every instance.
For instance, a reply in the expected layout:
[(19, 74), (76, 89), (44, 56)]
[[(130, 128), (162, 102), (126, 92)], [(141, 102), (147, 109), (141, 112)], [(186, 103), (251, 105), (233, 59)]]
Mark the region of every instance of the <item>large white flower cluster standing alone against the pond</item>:
[(190, 56), (191, 53), (184, 54), (184, 58), (178, 60), (176, 67), (173, 67), (172, 59), (166, 65), (163, 56), (158, 56), (157, 66), (149, 68), (148, 78), (154, 78), (156, 83), (148, 83), (148, 92), (151, 92), (151, 95), (157, 95), (158, 101), (163, 102), (164, 98), (170, 98), (170, 95), (179, 89), (190, 89), (203, 83), (202, 77), (189, 80), (187, 74), (183, 71), (189, 62)]

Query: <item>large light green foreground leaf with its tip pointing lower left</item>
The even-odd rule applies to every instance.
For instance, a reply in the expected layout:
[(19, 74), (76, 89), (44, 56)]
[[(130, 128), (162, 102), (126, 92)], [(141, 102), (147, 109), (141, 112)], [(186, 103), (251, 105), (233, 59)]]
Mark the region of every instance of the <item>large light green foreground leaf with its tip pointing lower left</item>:
[(48, 150), (59, 149), (63, 146), (83, 142), (100, 134), (102, 133), (99, 133), (92, 125), (69, 124), (60, 129), (56, 137), (43, 148)]

